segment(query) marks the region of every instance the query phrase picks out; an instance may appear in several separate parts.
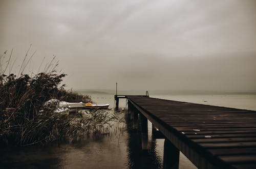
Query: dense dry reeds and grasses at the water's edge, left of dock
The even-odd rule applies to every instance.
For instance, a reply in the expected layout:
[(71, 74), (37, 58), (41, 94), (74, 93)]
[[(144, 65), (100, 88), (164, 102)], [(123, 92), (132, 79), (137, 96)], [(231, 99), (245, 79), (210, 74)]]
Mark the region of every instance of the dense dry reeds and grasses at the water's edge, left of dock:
[[(5, 62), (9, 67), (10, 58), (11, 55), (9, 61)], [(56, 74), (54, 69), (57, 65), (52, 64), (54, 59), (51, 62), (51, 71), (47, 68), (47, 71), (33, 77), (23, 74), (26, 61), (18, 76), (5, 75), (7, 66), (3, 66), (3, 55), (0, 61), (0, 145), (44, 145), (49, 142), (75, 140), (115, 119), (101, 110), (89, 111), (87, 116), (81, 113), (70, 116), (56, 113), (54, 110), (58, 104), (46, 105), (45, 102), (50, 99), (68, 102), (92, 101), (90, 96), (66, 91), (64, 85), (60, 86), (66, 74)]]

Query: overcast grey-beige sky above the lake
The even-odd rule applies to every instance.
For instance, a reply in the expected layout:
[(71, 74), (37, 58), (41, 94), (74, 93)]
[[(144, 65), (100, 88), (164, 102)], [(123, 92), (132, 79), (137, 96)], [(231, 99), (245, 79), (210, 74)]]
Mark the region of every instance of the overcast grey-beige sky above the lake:
[(256, 91), (253, 0), (0, 0), (0, 24), (2, 54), (56, 55), (68, 88)]

